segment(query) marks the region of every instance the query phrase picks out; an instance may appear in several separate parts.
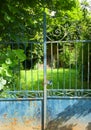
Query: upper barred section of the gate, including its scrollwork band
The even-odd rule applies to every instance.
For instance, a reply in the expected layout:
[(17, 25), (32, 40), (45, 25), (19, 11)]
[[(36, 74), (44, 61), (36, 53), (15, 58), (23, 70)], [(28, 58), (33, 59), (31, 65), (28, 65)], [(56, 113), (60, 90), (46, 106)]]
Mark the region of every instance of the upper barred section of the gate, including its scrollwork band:
[[(24, 61), (20, 63), (18, 60), (15, 68), (13, 67), (12, 75), (16, 79), (6, 76), (7, 82), (8, 78), (12, 81), (1, 91), (2, 97), (43, 97), (44, 84), (47, 97), (91, 96), (90, 40), (49, 41), (44, 49), (43, 43), (39, 42), (29, 42), (27, 46), (26, 43), (13, 42), (0, 45), (3, 46), (3, 53), (5, 51), (11, 54), (12, 50), (22, 49), (26, 55)], [(13, 59), (12, 61), (14, 62)]]

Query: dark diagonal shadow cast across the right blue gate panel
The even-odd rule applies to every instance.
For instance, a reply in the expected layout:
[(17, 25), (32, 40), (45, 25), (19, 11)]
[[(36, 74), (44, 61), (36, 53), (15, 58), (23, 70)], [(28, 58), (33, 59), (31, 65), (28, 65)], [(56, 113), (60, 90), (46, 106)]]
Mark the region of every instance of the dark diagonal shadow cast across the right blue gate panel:
[[(85, 123), (87, 124), (91, 120), (90, 114), (91, 101), (86, 99), (78, 100), (73, 105), (66, 107), (54, 120), (50, 121), (46, 130), (72, 130), (74, 126), (79, 124), (83, 124), (85, 127)], [(87, 130), (91, 130), (91, 123), (88, 124)]]

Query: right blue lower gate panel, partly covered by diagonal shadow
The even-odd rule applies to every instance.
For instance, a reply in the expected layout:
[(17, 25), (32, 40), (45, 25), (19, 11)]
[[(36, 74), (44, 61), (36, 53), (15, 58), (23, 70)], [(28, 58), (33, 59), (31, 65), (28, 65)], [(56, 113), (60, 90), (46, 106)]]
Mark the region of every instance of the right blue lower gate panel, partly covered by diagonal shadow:
[(47, 106), (47, 130), (91, 130), (91, 99), (51, 99)]

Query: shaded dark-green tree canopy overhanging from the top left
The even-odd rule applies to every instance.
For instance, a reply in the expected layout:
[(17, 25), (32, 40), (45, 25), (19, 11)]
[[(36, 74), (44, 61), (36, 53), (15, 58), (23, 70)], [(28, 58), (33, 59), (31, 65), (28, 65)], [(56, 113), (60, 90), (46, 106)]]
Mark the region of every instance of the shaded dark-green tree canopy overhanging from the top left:
[(62, 18), (64, 12), (76, 7), (76, 1), (4, 0), (0, 5), (0, 40), (27, 41), (42, 37), (44, 8), (48, 13), (55, 10)]

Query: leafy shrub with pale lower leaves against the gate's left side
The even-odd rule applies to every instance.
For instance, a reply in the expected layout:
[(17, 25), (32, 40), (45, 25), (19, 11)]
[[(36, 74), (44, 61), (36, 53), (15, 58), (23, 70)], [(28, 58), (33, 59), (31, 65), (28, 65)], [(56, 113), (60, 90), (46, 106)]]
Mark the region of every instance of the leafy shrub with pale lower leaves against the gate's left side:
[(11, 50), (8, 47), (0, 51), (0, 90), (15, 86), (19, 66), (25, 59), (22, 49)]

